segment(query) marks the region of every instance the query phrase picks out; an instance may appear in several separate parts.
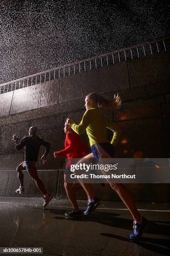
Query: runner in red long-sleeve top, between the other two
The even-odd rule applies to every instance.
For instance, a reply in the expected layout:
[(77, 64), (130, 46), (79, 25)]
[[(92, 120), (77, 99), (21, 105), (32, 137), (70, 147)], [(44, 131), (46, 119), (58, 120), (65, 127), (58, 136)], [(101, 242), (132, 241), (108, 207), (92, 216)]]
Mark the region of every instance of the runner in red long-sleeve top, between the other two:
[(70, 171), (70, 165), (71, 165), (71, 159), (73, 158), (82, 158), (83, 156), (87, 155), (89, 153), (88, 148), (85, 146), (85, 144), (82, 142), (81, 137), (72, 131), (70, 128), (70, 125), (65, 123), (64, 132), (66, 134), (65, 136), (65, 149), (62, 149), (60, 151), (54, 152), (54, 157), (58, 156), (67, 156), (68, 162), (65, 168), (64, 173), (64, 187), (65, 191), (67, 193), (67, 197), (70, 200), (73, 209), (65, 212), (65, 216), (67, 217), (77, 217), (81, 215), (81, 211), (77, 205), (76, 198), (75, 198), (75, 189), (77, 189), (79, 186), (81, 187), (80, 183), (72, 184), (67, 183), (67, 175), (71, 174)]

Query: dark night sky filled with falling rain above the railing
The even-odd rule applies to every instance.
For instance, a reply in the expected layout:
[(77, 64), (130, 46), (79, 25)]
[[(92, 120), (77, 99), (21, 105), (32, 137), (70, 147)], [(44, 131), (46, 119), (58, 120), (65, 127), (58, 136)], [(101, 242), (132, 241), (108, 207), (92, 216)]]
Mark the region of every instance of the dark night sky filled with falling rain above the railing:
[(170, 35), (163, 0), (0, 2), (0, 83)]

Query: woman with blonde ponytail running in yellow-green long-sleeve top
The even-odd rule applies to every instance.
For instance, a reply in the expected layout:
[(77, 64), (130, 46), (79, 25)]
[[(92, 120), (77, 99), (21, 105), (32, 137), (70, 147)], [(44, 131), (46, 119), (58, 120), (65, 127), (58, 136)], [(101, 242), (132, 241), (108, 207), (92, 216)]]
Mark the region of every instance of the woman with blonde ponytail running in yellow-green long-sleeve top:
[[(114, 157), (114, 147), (116, 146), (119, 137), (120, 137), (120, 128), (117, 125), (113, 124), (108, 118), (106, 118), (100, 112), (99, 108), (105, 108), (107, 110), (114, 110), (116, 108), (120, 108), (121, 100), (120, 97), (114, 96), (114, 100), (107, 100), (104, 97), (98, 95), (95, 92), (90, 93), (85, 97), (85, 108), (86, 111), (82, 117), (82, 120), (79, 125), (77, 125), (73, 120), (67, 118), (67, 123), (70, 124), (70, 127), (77, 134), (82, 134), (87, 132), (87, 136), (90, 141), (90, 146), (92, 149), (92, 153), (85, 156), (85, 158), (96, 158), (99, 160), (100, 158), (113, 158)], [(106, 128), (112, 130), (114, 132), (111, 143), (108, 141), (106, 137)], [(86, 184), (81, 183), (84, 188), (87, 197), (88, 189), (86, 189)], [(137, 239), (145, 232), (148, 227), (148, 220), (140, 215), (138, 209), (135, 206), (132, 196), (128, 192), (128, 190), (124, 187), (124, 185), (119, 183), (110, 183), (110, 187), (117, 192), (121, 200), (124, 202), (126, 207), (128, 207), (130, 213), (133, 216), (133, 233), (130, 233), (131, 239)], [(92, 195), (90, 196), (92, 197)], [(94, 210), (95, 197), (93, 195), (93, 199), (88, 200), (88, 207), (85, 210), (85, 214), (89, 213), (91, 209)]]

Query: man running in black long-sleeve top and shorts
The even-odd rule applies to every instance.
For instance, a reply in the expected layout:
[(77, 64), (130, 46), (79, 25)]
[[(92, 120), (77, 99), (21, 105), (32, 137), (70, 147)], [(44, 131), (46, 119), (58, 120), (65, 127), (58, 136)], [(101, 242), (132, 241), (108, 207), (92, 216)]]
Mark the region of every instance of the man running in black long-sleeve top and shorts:
[(52, 200), (53, 196), (47, 193), (44, 184), (39, 179), (37, 175), (36, 163), (38, 159), (38, 154), (40, 146), (45, 146), (46, 150), (43, 156), (41, 156), (42, 163), (46, 163), (46, 156), (50, 151), (50, 143), (39, 138), (37, 135), (37, 127), (33, 126), (29, 129), (29, 136), (25, 136), (20, 142), (18, 142), (18, 136), (14, 135), (13, 140), (15, 142), (15, 147), (19, 151), (24, 148), (24, 161), (17, 167), (18, 179), (20, 181), (20, 187), (15, 191), (18, 194), (24, 194), (24, 174), (23, 170), (27, 170), (30, 174), (32, 180), (35, 182), (37, 188), (42, 192), (44, 196), (43, 209), (47, 207), (49, 202)]

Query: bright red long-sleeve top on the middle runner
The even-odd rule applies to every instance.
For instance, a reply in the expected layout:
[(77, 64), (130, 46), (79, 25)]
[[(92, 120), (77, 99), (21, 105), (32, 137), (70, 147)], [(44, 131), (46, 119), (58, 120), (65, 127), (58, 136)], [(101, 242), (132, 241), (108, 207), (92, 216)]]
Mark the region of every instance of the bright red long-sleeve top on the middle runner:
[(69, 161), (67, 162), (66, 167), (70, 167), (72, 158), (82, 158), (89, 153), (89, 150), (82, 142), (81, 137), (77, 133), (71, 131), (66, 134), (64, 146), (64, 149), (58, 151), (58, 155), (67, 156)]

